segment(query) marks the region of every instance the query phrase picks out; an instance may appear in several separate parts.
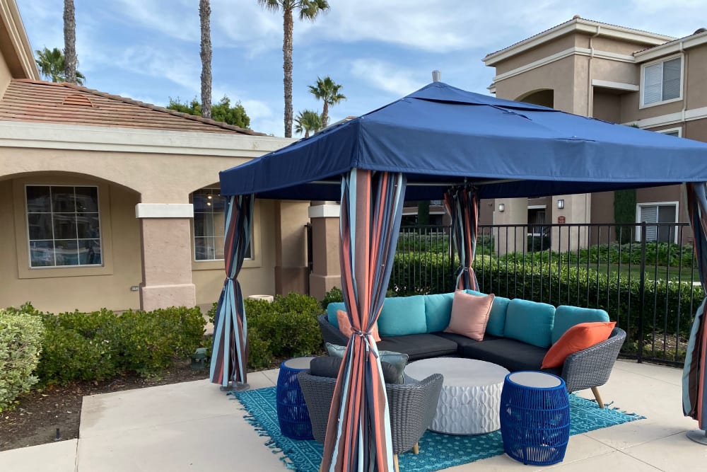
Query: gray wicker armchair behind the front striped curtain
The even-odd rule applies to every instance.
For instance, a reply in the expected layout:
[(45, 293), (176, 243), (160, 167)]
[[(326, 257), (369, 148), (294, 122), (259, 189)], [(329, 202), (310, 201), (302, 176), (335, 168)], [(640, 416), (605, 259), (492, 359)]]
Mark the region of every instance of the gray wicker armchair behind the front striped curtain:
[[(324, 443), (337, 379), (314, 376), (309, 369), (297, 374), (297, 379), (309, 410), (314, 439)], [(433, 374), (416, 384), (385, 384), (396, 471), (398, 454), (410, 449), (417, 454), (417, 442), (436, 413), (442, 382), (441, 374)]]

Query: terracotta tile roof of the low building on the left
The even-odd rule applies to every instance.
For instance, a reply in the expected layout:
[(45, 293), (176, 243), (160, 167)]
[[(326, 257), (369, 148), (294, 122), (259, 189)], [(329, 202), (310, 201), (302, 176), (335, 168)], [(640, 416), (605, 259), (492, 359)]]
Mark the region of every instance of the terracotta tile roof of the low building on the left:
[(30, 79), (10, 82), (0, 100), (0, 120), (264, 136), (92, 88)]

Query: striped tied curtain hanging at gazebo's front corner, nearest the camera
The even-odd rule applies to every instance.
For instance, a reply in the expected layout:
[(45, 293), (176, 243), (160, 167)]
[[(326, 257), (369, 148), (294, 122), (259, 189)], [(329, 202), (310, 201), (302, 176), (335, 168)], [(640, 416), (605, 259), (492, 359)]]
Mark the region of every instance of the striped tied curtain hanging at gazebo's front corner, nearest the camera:
[(390, 417), (378, 348), (378, 320), (395, 254), (405, 176), (352, 169), (341, 180), (341, 292), (354, 334), (329, 412), (322, 471), (392, 471)]

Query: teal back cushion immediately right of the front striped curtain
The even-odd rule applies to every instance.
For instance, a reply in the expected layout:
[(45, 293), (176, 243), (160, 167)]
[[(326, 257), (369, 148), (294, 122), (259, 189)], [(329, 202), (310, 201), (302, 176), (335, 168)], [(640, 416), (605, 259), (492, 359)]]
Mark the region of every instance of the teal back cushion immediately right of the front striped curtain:
[(378, 318), (381, 336), (403, 336), (427, 333), (425, 297), (393, 297), (385, 299)]

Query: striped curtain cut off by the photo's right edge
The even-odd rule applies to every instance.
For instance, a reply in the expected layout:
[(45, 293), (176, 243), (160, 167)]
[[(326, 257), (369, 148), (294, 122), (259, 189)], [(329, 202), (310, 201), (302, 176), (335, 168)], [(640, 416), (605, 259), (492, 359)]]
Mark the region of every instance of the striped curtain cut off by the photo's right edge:
[[(695, 237), (695, 254), (700, 272), (702, 289), (707, 277), (707, 183), (688, 183), (687, 211)], [(682, 371), (682, 410), (699, 422), (701, 430), (707, 430), (707, 397), (705, 396), (705, 367), (707, 367), (707, 329), (705, 329), (705, 303), (697, 309), (692, 322), (685, 365)]]

